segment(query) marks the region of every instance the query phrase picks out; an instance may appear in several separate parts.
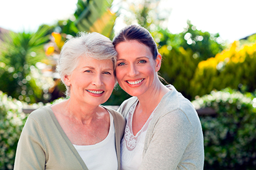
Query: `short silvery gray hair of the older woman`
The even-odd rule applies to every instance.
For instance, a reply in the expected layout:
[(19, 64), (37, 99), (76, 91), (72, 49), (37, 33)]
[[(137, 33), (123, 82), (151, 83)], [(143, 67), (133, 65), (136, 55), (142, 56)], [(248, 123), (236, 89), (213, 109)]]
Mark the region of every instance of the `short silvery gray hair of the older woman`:
[[(79, 57), (92, 57), (97, 60), (112, 60), (116, 68), (117, 52), (111, 40), (97, 32), (79, 32), (77, 37), (67, 40), (61, 49), (57, 72), (64, 83), (65, 75), (71, 75), (77, 67)], [(66, 96), (70, 96), (70, 87), (66, 86)]]

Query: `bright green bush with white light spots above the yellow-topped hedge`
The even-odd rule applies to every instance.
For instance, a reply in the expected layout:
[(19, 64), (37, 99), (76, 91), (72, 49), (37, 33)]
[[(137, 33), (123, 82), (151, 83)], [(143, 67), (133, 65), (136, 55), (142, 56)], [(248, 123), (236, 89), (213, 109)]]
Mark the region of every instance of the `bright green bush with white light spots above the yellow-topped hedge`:
[(199, 60), (214, 57), (225, 48), (219, 34), (199, 31), (190, 21), (187, 21), (187, 27), (180, 34), (171, 34), (167, 29), (159, 28), (152, 35), (160, 47), (168, 45), (172, 48), (190, 49), (193, 57)]

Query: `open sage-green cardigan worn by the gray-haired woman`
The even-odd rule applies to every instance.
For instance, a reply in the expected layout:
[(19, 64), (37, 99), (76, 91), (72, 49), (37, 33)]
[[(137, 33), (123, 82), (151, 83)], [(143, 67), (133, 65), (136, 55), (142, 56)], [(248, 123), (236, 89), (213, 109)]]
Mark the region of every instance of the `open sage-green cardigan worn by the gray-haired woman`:
[[(120, 141), (124, 133), (125, 120), (117, 111), (106, 109), (114, 118), (117, 161), (120, 169)], [(14, 169), (87, 169), (59, 125), (51, 106), (43, 106), (27, 118), (19, 138)]]

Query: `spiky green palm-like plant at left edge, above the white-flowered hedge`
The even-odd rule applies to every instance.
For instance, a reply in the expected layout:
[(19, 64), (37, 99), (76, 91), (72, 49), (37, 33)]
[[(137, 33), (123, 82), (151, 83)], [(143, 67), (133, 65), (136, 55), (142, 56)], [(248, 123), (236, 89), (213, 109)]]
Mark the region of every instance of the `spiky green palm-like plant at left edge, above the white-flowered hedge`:
[[(26, 102), (44, 100), (42, 88), (34, 78), (35, 65), (45, 59), (43, 45), (49, 41), (48, 27), (36, 33), (14, 33), (5, 37), (0, 56), (0, 90)], [(38, 77), (39, 78), (39, 77)]]

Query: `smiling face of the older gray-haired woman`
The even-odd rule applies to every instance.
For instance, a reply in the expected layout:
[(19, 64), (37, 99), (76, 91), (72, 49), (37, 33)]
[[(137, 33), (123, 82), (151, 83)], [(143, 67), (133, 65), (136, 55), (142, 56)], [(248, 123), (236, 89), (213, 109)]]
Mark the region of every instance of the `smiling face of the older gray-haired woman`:
[(88, 105), (99, 105), (111, 96), (116, 83), (112, 60), (81, 57), (71, 75), (65, 77), (71, 98)]

